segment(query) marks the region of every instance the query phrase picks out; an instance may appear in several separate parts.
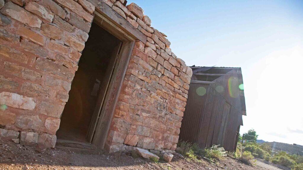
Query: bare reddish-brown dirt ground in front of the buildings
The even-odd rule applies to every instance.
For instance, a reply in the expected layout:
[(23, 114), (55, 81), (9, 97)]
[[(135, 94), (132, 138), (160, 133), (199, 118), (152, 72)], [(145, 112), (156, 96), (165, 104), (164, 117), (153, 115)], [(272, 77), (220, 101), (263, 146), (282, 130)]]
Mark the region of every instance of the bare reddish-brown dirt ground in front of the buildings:
[(98, 150), (80, 150), (68, 148), (48, 149), (44, 153), (35, 151), (32, 147), (22, 146), (8, 141), (0, 141), (0, 169), (52, 169), (52, 170), (280, 170), (275, 166), (258, 161), (257, 165), (250, 166), (237, 159), (227, 157), (216, 165), (201, 160), (188, 161), (175, 156), (170, 163), (159, 161), (151, 162), (143, 158), (133, 158), (129, 153), (105, 154)]

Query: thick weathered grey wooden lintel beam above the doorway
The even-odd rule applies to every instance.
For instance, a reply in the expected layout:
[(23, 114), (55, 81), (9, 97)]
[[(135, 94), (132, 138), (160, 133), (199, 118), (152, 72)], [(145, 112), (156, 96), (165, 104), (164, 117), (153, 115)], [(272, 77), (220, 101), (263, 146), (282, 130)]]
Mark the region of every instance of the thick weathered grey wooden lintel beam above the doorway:
[(124, 19), (121, 15), (119, 15), (116, 11), (114, 11), (110, 6), (108, 6), (105, 2), (98, 0), (88, 0), (88, 2), (95, 5), (95, 12), (100, 13), (105, 16), (108, 20), (115, 23), (118, 27), (120, 27), (123, 31), (128, 33), (130, 36), (135, 38), (136, 40), (142, 41), (144, 44), (147, 41), (147, 37), (139, 31), (137, 28), (131, 25), (126, 19)]

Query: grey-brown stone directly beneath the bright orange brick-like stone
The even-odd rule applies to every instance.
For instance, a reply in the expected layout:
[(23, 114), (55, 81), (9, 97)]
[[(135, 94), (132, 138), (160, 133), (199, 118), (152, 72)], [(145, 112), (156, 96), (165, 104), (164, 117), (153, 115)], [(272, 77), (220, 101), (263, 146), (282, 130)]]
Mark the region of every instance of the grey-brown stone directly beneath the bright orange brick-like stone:
[(39, 57), (46, 58), (48, 56), (48, 51), (45, 48), (40, 47), (39, 45), (31, 43), (29, 41), (22, 40), (21, 41), (21, 47), (25, 51), (28, 51), (32, 54), (35, 54), (35, 55), (39, 56)]

